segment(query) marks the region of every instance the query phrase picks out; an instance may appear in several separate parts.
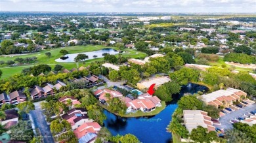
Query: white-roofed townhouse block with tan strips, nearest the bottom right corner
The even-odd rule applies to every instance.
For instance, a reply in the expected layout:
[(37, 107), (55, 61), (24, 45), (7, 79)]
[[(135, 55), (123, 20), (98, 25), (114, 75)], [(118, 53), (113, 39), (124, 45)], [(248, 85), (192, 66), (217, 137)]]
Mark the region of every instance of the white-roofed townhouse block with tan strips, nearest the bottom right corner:
[(183, 110), (184, 125), (189, 133), (199, 125), (206, 128), (207, 131), (215, 131), (211, 117), (202, 110)]

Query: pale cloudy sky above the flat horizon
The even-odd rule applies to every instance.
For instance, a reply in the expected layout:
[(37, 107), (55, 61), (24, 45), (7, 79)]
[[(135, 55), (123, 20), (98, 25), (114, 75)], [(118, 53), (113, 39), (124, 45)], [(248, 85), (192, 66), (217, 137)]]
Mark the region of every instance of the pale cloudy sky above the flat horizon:
[(256, 12), (256, 0), (0, 0), (0, 11)]

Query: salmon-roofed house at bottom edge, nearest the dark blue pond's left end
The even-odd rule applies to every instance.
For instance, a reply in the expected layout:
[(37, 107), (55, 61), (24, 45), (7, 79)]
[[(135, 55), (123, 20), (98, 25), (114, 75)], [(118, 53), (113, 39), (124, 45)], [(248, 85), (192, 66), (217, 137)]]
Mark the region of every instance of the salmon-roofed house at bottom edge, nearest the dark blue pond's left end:
[(83, 125), (74, 130), (74, 134), (79, 143), (94, 142), (100, 129), (101, 126), (96, 122), (83, 123)]

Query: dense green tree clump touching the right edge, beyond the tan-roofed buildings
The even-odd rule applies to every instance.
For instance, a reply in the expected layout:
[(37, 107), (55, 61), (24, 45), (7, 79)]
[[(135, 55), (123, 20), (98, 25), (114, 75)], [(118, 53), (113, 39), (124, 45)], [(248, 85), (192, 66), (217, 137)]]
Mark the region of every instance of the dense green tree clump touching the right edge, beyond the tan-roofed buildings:
[(248, 64), (248, 63), (256, 63), (256, 57), (249, 56), (243, 53), (230, 53), (224, 56), (224, 61), (233, 61), (235, 63)]

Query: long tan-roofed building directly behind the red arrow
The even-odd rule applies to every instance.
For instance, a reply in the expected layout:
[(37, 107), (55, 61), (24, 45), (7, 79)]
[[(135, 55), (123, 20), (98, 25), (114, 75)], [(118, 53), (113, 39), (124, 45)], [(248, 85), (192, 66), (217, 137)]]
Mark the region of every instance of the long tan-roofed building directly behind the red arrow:
[(152, 84), (156, 84), (154, 87), (157, 88), (166, 82), (170, 82), (171, 79), (168, 76), (161, 76), (158, 78), (151, 78), (150, 80), (142, 80), (137, 83), (138, 89), (148, 89)]

